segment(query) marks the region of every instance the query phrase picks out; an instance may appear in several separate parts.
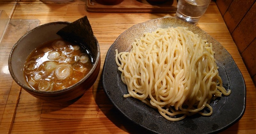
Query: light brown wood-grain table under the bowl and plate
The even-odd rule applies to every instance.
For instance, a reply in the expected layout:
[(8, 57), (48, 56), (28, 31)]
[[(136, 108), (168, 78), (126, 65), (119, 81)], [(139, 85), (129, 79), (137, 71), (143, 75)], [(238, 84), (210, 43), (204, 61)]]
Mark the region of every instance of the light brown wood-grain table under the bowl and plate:
[[(55, 104), (37, 99), (21, 89), (12, 80), (8, 71), (8, 57), (14, 44), (1, 44), (1, 134), (143, 132), (143, 129), (124, 118), (105, 95), (101, 85), (104, 59), (108, 48), (126, 29), (147, 20), (174, 16), (175, 12), (87, 12), (85, 0), (76, 0), (68, 4), (45, 4), (39, 0), (20, 0), (17, 2), (11, 19), (38, 19), (42, 25), (53, 21), (75, 21), (85, 15), (87, 15), (94, 35), (100, 43), (101, 69), (93, 87), (76, 101)], [(256, 89), (214, 1), (211, 2), (197, 26), (218, 40), (228, 50), (242, 72), (246, 84), (245, 113), (237, 123), (224, 130), (223, 133), (256, 133)], [(15, 34), (15, 31), (12, 32)], [(12, 41), (17, 41), (19, 38), (20, 36), (15, 36)]]

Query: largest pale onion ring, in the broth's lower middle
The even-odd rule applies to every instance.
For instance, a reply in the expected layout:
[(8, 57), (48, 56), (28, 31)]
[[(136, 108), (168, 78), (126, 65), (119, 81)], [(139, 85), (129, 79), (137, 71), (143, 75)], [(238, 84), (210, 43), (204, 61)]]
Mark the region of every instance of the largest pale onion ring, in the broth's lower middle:
[(57, 79), (63, 80), (68, 78), (71, 74), (71, 65), (69, 64), (60, 64), (56, 67), (54, 74)]

